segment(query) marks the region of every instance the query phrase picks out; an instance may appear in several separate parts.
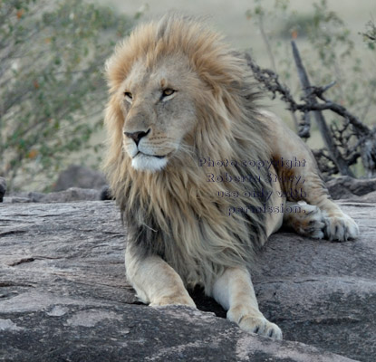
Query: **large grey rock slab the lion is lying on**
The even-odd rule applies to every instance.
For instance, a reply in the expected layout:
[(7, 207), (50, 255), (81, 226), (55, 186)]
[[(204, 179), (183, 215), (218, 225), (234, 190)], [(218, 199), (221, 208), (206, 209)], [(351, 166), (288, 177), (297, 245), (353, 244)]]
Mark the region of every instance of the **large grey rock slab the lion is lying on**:
[(360, 224), (356, 242), (276, 233), (260, 255), (255, 291), (282, 342), (218, 318), (226, 313), (200, 291), (201, 311), (141, 305), (111, 201), (2, 204), (0, 360), (373, 362), (376, 205), (341, 204)]

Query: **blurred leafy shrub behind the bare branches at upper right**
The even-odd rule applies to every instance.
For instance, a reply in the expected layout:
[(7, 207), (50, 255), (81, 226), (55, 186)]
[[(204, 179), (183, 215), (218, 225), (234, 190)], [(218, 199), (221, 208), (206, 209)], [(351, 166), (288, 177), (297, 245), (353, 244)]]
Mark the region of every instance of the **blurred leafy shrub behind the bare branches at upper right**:
[[(366, 32), (362, 33), (362, 39), (362, 29), (357, 34), (351, 33), (339, 15), (329, 9), (326, 0), (314, 2), (309, 14), (295, 12), (289, 0), (275, 0), (275, 6), (269, 9), (265, 9), (262, 0), (254, 0), (254, 6), (246, 12), (246, 17), (259, 29), (270, 67), (294, 95), (301, 94), (302, 88), (287, 36), (298, 44), (311, 84), (325, 86), (335, 81), (335, 86), (325, 92), (325, 97), (346, 107), (363, 123), (376, 128), (376, 29), (373, 22), (365, 24)], [(257, 54), (253, 56), (257, 59)], [(325, 112), (325, 115), (333, 133), (346, 123), (346, 119), (331, 112)], [(293, 117), (297, 127), (296, 115)], [(351, 126), (343, 136), (345, 133), (349, 148), (361, 145), (362, 140), (356, 137)], [(345, 155), (347, 149), (343, 145), (337, 146)], [(356, 176), (364, 175), (361, 162), (352, 168)]]

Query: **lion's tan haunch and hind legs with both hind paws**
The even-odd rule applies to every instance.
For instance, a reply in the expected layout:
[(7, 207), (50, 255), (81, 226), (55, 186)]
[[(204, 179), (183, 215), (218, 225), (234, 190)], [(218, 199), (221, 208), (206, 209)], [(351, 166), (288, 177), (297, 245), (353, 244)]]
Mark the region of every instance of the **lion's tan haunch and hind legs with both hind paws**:
[[(304, 214), (285, 215), (285, 223), (298, 233), (320, 238), (320, 223), (324, 222), (325, 238), (340, 242), (355, 239), (359, 235), (358, 225), (331, 200), (311, 150), (274, 114), (263, 111), (260, 120), (270, 129), (268, 137), (274, 161), (274, 168), (270, 168), (272, 179), (278, 176), (288, 201), (297, 203), (302, 200), (308, 204), (304, 206), (308, 217)], [(319, 211), (311, 205), (320, 208), (323, 221), (320, 221)]]

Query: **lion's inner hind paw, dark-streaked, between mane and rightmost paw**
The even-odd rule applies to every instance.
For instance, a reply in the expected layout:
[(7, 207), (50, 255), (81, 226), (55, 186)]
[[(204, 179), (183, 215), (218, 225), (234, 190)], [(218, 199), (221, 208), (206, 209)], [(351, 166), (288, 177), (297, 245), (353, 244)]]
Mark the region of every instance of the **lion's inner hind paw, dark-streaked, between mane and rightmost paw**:
[(323, 239), (326, 226), (325, 215), (316, 205), (287, 201), (284, 211), (284, 226), (293, 229), (295, 233), (314, 239)]

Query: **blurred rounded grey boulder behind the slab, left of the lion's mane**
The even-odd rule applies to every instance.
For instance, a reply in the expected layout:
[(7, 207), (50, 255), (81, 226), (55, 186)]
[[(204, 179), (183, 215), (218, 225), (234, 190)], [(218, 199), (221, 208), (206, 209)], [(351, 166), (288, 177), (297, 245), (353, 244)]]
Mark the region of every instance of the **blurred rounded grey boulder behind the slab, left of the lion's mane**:
[(101, 189), (107, 185), (106, 178), (101, 172), (89, 167), (72, 165), (63, 171), (53, 187), (53, 191), (63, 191), (70, 187)]

